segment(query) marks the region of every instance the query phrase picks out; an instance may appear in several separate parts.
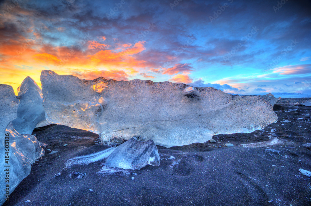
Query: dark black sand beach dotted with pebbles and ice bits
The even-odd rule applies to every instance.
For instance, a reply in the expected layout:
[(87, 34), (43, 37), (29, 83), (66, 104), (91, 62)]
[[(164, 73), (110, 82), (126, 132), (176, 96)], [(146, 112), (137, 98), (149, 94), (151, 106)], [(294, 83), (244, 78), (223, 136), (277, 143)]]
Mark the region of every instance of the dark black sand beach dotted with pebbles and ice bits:
[[(107, 148), (95, 144), (98, 135), (61, 125), (40, 128), (34, 133), (48, 144), (46, 154), (3, 205), (311, 205), (311, 178), (299, 172), (311, 171), (311, 148), (302, 145), (311, 143), (311, 107), (279, 109), (279, 121), (264, 130), (216, 135), (213, 144), (158, 146), (160, 166), (112, 174), (97, 173), (100, 162), (63, 166), (69, 158)], [(241, 145), (275, 135), (283, 143)], [(234, 147), (225, 147), (226, 143)], [(58, 152), (49, 155), (47, 149)], [(86, 175), (73, 179), (69, 175), (74, 172)]]

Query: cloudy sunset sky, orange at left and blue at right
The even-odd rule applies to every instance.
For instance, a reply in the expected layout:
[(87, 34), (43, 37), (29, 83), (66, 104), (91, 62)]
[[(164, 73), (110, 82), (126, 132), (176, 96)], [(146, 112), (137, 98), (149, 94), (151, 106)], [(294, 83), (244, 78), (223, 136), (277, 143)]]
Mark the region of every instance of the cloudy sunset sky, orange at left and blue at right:
[(0, 1), (0, 84), (41, 86), (52, 70), (311, 95), (310, 11), (301, 0)]

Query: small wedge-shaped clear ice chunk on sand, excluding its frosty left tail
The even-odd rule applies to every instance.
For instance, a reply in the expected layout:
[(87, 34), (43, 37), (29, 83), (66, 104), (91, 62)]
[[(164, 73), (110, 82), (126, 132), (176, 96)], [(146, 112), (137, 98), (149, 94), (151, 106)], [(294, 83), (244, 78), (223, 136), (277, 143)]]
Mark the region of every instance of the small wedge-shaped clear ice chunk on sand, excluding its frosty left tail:
[(142, 142), (134, 138), (119, 145), (104, 163), (107, 167), (132, 170), (139, 170), (147, 164), (160, 165), (160, 156), (156, 144), (152, 140)]

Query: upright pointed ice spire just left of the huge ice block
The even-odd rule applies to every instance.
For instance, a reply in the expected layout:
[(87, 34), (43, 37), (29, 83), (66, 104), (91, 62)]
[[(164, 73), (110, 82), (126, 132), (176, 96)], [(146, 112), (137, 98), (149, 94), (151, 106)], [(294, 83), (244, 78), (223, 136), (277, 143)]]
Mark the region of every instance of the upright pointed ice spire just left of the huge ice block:
[(39, 122), (45, 121), (42, 90), (33, 79), (27, 76), (17, 88), (17, 92), (20, 104), (17, 109), (17, 118), (12, 123), (19, 134), (31, 134)]

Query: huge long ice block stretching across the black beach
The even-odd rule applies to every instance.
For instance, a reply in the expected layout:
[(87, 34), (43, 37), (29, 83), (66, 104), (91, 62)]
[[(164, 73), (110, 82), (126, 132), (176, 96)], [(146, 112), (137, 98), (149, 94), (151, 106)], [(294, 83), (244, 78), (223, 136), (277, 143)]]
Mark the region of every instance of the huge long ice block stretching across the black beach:
[(266, 100), (212, 87), (103, 77), (88, 81), (49, 70), (41, 72), (41, 84), (47, 121), (95, 132), (103, 142), (136, 135), (169, 148), (217, 134), (249, 133), (277, 121)]

